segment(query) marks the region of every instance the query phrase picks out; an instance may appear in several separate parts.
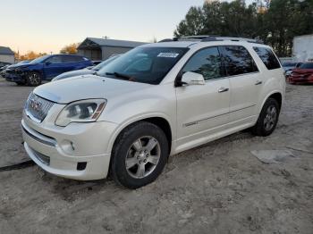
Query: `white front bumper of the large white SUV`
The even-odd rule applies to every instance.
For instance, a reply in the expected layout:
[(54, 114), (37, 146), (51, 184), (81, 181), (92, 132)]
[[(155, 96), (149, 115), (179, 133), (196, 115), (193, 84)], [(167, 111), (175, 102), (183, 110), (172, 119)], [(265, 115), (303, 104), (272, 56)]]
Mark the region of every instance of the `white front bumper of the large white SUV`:
[(36, 123), (24, 114), (21, 121), (24, 147), (43, 170), (75, 180), (99, 180), (107, 176), (107, 145), (116, 124), (71, 123), (65, 128)]

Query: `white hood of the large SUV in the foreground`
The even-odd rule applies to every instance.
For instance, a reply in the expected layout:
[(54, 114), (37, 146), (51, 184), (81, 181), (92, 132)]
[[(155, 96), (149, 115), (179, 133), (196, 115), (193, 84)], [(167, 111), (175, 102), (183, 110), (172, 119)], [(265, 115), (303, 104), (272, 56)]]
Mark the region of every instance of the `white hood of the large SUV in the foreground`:
[(150, 86), (145, 83), (89, 75), (50, 82), (35, 88), (33, 92), (55, 103), (69, 104), (89, 98), (110, 99)]

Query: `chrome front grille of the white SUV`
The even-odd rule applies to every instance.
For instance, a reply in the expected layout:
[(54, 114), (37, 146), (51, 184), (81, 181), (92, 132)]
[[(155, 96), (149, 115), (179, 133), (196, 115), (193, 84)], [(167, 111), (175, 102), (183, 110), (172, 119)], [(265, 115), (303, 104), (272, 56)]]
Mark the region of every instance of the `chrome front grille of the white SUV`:
[(55, 103), (31, 93), (25, 104), (25, 111), (34, 121), (43, 121)]

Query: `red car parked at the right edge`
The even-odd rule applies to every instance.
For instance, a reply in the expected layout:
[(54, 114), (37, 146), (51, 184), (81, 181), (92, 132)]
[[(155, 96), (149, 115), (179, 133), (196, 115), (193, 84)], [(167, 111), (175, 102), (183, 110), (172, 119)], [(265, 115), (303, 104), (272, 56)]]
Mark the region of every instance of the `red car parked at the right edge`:
[(313, 62), (303, 63), (299, 68), (293, 69), (288, 80), (291, 84), (313, 84)]

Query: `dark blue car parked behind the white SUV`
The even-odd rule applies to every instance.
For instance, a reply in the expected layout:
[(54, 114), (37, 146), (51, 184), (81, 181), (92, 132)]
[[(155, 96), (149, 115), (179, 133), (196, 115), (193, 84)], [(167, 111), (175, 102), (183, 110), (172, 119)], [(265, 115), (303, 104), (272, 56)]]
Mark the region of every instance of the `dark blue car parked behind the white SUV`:
[(30, 63), (16, 64), (7, 69), (4, 78), (18, 85), (38, 86), (42, 80), (51, 80), (66, 71), (91, 66), (92, 62), (83, 56), (73, 54), (44, 55)]

